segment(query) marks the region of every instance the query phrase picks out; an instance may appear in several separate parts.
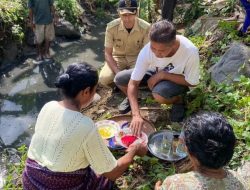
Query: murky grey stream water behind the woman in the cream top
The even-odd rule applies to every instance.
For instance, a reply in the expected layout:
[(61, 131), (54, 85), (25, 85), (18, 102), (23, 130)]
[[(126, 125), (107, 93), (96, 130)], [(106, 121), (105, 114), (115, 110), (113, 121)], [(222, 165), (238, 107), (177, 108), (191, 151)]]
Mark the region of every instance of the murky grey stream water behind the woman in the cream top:
[[(54, 61), (38, 64), (27, 58), (1, 75), (0, 189), (6, 164), (18, 162), (17, 147), (29, 145), (40, 109), (46, 102), (59, 99), (54, 88), (56, 77), (73, 62), (85, 61), (96, 68), (103, 64), (104, 33), (105, 23), (98, 23), (80, 40), (57, 39), (51, 46)], [(34, 54), (35, 49), (32, 51)]]

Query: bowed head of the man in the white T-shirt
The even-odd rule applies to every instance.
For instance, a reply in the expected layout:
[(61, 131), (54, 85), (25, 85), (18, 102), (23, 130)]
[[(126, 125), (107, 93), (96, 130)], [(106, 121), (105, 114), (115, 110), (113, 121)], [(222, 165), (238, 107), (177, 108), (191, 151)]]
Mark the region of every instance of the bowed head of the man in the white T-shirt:
[(156, 57), (168, 57), (176, 49), (176, 29), (167, 20), (162, 20), (152, 25), (149, 39), (151, 50)]

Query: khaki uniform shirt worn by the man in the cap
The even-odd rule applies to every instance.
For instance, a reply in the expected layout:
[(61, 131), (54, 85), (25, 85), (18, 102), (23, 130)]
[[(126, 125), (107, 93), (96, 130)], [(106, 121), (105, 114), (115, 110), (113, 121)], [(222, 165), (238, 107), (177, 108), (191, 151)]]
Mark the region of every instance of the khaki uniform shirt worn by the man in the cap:
[(113, 48), (113, 57), (118, 66), (135, 64), (140, 50), (149, 41), (149, 28), (148, 22), (137, 17), (130, 33), (126, 30), (120, 18), (107, 24), (104, 46)]

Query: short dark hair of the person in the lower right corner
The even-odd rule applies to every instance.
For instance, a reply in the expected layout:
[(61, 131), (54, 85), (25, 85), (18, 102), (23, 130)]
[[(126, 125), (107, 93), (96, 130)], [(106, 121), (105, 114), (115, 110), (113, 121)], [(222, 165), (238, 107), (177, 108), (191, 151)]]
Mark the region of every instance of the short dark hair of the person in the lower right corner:
[(184, 133), (189, 153), (202, 166), (219, 169), (231, 160), (235, 135), (221, 114), (200, 112), (189, 117), (184, 123)]

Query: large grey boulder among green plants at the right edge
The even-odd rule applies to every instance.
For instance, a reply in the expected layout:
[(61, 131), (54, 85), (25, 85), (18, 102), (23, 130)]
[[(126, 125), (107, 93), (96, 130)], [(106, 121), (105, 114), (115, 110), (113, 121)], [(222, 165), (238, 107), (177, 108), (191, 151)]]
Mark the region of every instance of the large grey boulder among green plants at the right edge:
[(234, 43), (225, 52), (220, 61), (213, 65), (212, 79), (218, 83), (237, 81), (240, 75), (250, 77), (250, 48), (241, 43)]

